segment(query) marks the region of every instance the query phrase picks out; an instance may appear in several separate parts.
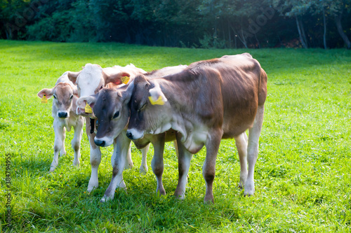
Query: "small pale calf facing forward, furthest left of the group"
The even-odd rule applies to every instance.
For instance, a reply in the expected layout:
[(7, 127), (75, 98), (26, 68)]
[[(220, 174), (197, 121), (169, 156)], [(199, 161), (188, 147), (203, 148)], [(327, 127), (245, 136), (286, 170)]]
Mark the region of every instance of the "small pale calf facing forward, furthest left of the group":
[(55, 171), (58, 166), (58, 155), (65, 155), (65, 129), (70, 131), (74, 128), (72, 149), (74, 150), (73, 165), (79, 166), (81, 135), (83, 134), (84, 118), (76, 114), (77, 87), (68, 79), (68, 72), (62, 74), (55, 84), (55, 87), (45, 88), (38, 93), (38, 97), (46, 99), (53, 96), (53, 130), (55, 142), (53, 146), (53, 162), (50, 171)]

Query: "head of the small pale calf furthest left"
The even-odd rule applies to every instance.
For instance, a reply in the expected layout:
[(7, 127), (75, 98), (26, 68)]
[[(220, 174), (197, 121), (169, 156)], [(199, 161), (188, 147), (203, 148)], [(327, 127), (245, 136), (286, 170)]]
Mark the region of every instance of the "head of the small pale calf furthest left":
[[(39, 98), (43, 98), (44, 94), (49, 99), (53, 97), (53, 106), (57, 109), (59, 118), (68, 118), (69, 111), (72, 110), (74, 96), (77, 98), (77, 89), (69, 85), (69, 83), (58, 83), (55, 87), (44, 88), (38, 93)], [(75, 104), (74, 104), (75, 105)]]

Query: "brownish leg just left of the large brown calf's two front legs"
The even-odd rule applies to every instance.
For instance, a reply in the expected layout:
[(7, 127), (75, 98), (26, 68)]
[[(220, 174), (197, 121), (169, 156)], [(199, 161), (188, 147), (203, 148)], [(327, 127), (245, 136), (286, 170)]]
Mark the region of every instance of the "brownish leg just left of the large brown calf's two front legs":
[(154, 146), (154, 157), (152, 157), (151, 167), (157, 180), (156, 192), (159, 192), (160, 195), (166, 195), (162, 183), (162, 174), (164, 174), (164, 136), (165, 134), (154, 135), (151, 141)]

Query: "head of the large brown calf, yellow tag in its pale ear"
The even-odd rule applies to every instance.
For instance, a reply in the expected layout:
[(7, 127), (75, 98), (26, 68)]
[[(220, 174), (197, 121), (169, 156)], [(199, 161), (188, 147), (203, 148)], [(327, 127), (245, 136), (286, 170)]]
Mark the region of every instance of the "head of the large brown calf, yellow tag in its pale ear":
[(137, 76), (126, 92), (131, 96), (129, 139), (141, 139), (144, 134), (161, 134), (171, 129), (171, 106), (157, 80)]

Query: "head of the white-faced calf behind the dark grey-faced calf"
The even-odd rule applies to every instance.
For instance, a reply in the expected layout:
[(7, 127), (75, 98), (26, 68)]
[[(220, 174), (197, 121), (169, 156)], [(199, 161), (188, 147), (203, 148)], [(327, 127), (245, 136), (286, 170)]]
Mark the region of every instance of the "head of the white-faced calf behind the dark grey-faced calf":
[[(69, 71), (67, 76), (72, 83), (77, 84), (79, 97), (88, 97), (98, 93), (102, 87), (105, 87), (108, 83), (113, 83), (114, 85), (122, 84), (122, 78), (129, 78), (131, 76), (131, 73), (128, 72), (129, 69), (123, 71), (122, 68), (121, 66), (114, 66), (114, 68), (102, 69), (98, 64), (88, 63), (79, 72)], [(79, 99), (79, 101), (85, 100)], [(86, 113), (84, 110), (86, 101), (84, 104), (77, 103), (77, 105), (80, 106), (77, 108), (77, 114), (93, 118), (93, 113)], [(83, 108), (81, 108), (81, 106), (83, 106)], [(93, 107), (91, 106), (91, 108)]]

